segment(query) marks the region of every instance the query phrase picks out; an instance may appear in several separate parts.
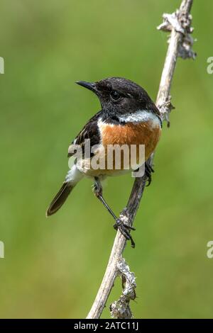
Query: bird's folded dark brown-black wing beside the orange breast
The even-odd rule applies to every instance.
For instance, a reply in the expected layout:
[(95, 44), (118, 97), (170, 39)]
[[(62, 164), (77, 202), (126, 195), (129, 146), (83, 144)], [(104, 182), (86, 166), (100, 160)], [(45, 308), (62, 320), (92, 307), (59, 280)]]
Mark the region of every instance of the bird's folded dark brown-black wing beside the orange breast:
[[(98, 145), (100, 142), (100, 134), (97, 122), (99, 120), (102, 111), (99, 111), (94, 115), (87, 124), (82, 128), (81, 132), (75, 137), (75, 140), (72, 141), (71, 145), (68, 148), (68, 157), (71, 157), (76, 154), (74, 149), (75, 145), (80, 145), (82, 148), (82, 153), (84, 155), (84, 141), (90, 139), (90, 147)], [(91, 155), (92, 156), (92, 155)]]

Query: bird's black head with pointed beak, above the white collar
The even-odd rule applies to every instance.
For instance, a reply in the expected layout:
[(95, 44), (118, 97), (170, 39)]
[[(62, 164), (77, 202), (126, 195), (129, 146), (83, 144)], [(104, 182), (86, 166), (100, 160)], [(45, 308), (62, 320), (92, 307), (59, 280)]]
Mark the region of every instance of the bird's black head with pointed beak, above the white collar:
[(98, 82), (77, 81), (99, 97), (102, 110), (108, 114), (133, 113), (146, 110), (159, 114), (147, 92), (138, 84), (122, 77), (109, 77)]

